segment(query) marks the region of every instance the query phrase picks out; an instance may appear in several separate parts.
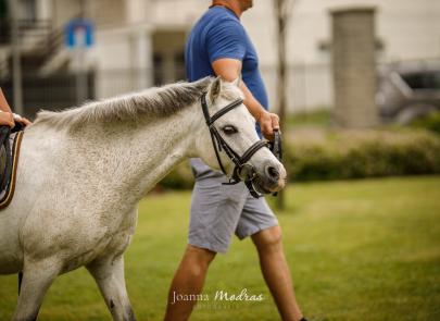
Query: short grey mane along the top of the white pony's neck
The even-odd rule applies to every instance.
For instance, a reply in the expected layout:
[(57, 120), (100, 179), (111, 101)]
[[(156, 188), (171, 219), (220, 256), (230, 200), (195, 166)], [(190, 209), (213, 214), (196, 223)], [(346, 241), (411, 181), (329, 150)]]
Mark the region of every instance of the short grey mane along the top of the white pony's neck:
[[(59, 129), (74, 129), (87, 123), (136, 121), (140, 116), (166, 118), (196, 103), (213, 79), (206, 77), (194, 83), (183, 82), (159, 88), (153, 87), (135, 94), (89, 102), (61, 112), (40, 111), (35, 125), (46, 124)], [(225, 89), (228, 91), (227, 88)]]

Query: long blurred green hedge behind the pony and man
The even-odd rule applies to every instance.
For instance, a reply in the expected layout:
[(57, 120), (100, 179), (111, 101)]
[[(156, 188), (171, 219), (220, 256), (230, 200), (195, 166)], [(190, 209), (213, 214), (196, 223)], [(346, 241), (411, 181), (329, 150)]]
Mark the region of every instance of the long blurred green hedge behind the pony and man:
[[(285, 137), (284, 164), (290, 182), (440, 174), (440, 136), (422, 129), (300, 131)], [(184, 162), (160, 186), (192, 184)]]

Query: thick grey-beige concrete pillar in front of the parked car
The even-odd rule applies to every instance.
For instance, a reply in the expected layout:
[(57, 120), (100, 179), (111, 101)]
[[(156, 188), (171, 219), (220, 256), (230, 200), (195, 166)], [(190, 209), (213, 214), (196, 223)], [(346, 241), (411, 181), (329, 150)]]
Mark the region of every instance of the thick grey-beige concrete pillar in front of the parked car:
[(375, 59), (375, 9), (331, 10), (334, 120), (348, 128), (378, 124)]

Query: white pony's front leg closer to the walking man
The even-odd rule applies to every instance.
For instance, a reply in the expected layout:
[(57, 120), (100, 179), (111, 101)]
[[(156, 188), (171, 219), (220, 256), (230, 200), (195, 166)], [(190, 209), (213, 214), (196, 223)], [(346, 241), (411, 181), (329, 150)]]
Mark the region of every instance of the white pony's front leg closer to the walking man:
[(87, 266), (115, 321), (135, 321), (124, 277), (124, 257), (105, 257)]

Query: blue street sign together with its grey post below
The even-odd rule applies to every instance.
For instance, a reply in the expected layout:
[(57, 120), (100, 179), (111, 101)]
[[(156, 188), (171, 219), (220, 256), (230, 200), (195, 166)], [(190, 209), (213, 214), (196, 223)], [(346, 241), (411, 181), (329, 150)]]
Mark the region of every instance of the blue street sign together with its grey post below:
[(76, 103), (88, 98), (86, 51), (93, 45), (93, 24), (86, 18), (75, 18), (65, 26), (65, 45), (75, 61)]

